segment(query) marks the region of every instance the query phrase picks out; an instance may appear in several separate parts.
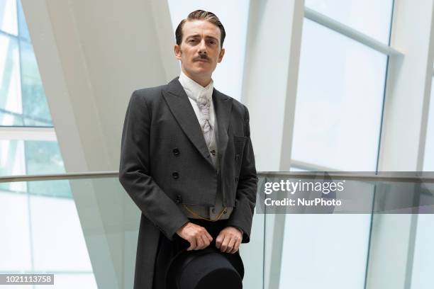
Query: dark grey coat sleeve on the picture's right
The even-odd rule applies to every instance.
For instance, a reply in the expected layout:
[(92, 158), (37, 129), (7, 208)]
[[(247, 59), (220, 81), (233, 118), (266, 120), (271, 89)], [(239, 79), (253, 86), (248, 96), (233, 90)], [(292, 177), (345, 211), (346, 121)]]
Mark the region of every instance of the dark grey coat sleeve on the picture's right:
[(255, 155), (253, 154), (252, 141), (250, 140), (249, 111), (246, 107), (244, 108), (244, 125), (247, 142), (244, 147), (243, 162), (241, 164), (235, 196), (235, 208), (230, 214), (227, 224), (228, 226), (242, 229), (242, 243), (248, 243), (250, 242), (250, 229), (252, 229), (253, 212), (256, 205), (257, 174)]

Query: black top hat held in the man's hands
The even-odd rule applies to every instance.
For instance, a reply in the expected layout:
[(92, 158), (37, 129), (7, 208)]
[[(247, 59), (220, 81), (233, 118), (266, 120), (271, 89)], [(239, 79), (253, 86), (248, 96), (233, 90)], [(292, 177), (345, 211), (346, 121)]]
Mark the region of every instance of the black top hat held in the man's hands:
[(166, 289), (241, 289), (244, 266), (238, 251), (223, 253), (211, 246), (180, 251), (169, 264)]

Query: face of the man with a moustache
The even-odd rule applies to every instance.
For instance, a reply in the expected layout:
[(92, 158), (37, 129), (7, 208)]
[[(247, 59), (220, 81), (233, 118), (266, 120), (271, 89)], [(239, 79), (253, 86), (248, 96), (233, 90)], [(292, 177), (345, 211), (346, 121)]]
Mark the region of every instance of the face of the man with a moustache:
[(221, 49), (221, 31), (218, 26), (203, 20), (186, 21), (182, 28), (181, 45), (174, 53), (182, 68), (192, 79), (208, 79), (225, 54)]

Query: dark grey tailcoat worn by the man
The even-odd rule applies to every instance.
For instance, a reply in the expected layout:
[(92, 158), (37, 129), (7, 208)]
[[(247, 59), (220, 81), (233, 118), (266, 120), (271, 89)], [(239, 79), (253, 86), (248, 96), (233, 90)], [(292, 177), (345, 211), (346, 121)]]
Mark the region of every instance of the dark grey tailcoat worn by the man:
[[(213, 90), (223, 205), (228, 225), (250, 241), (257, 175), (247, 108)], [(182, 203), (214, 205), (218, 174), (191, 103), (178, 79), (133, 92), (123, 124), (119, 181), (142, 212), (135, 289), (151, 289), (160, 232), (172, 240), (188, 222)]]

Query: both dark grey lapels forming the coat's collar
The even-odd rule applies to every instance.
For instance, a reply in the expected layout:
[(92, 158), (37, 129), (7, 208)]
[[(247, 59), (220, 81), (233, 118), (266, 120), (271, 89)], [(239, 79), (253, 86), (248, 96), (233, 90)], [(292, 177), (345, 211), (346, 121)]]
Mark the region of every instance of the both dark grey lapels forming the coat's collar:
[[(163, 96), (181, 129), (193, 143), (194, 147), (212, 166), (213, 162), (208, 152), (208, 147), (206, 147), (199, 121), (191, 107), (187, 94), (179, 83), (178, 77), (167, 84), (167, 89), (163, 91)], [(228, 147), (228, 126), (230, 112), (232, 111), (232, 98), (213, 89), (213, 105), (217, 120), (218, 154), (223, 159), (226, 147)]]

